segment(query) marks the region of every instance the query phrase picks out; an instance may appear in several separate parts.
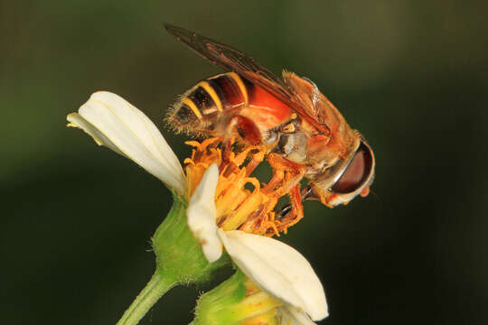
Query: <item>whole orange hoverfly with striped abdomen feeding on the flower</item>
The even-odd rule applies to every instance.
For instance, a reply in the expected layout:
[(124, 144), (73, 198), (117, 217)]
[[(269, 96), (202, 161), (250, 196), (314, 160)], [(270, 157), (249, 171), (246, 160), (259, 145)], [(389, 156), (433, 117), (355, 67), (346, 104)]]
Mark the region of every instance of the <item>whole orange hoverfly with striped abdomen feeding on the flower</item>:
[[(333, 208), (368, 195), (375, 166), (371, 147), (311, 80), (286, 70), (279, 79), (228, 45), (172, 24), (164, 27), (227, 71), (187, 90), (167, 121), (179, 132), (221, 137), (224, 156), (233, 139), (264, 148), (274, 170), (267, 188), (281, 184), (291, 198), (277, 218), (302, 218), (302, 200)], [(303, 177), (309, 181), (300, 190)]]

